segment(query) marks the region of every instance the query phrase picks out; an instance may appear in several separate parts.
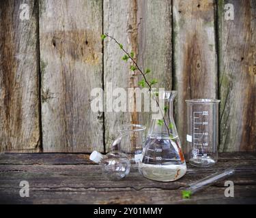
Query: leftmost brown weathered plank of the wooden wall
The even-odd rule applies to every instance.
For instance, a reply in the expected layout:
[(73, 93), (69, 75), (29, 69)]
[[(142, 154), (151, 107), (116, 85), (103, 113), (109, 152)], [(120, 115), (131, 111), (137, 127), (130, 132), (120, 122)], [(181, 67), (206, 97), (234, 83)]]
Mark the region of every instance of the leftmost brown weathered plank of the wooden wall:
[(40, 150), (38, 3), (29, 20), (22, 3), (0, 1), (0, 152)]

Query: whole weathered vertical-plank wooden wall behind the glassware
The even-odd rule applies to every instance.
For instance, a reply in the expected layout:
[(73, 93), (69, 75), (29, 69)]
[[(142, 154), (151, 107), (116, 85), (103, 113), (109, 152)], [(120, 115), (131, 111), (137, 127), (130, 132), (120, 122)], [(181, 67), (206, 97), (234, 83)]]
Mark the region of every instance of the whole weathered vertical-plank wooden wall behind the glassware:
[(147, 113), (90, 109), (94, 87), (140, 79), (103, 32), (134, 50), (159, 87), (178, 91), (182, 143), (184, 99), (216, 97), (219, 150), (256, 151), (254, 0), (1, 0), (0, 151), (107, 151), (119, 124), (146, 124)]

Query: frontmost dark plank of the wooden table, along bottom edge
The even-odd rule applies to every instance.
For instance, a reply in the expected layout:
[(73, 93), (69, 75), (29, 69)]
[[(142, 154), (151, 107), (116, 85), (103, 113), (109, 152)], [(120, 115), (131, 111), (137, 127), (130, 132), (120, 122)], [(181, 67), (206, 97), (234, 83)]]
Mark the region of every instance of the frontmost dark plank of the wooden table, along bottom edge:
[[(180, 190), (116, 190), (116, 191), (56, 191), (49, 189), (33, 190), (30, 198), (19, 198), (10, 193), (18, 193), (18, 189), (0, 190), (6, 196), (0, 203), (15, 204), (255, 204), (256, 186), (236, 187), (235, 198), (225, 198), (224, 187), (210, 187), (197, 193), (197, 198), (182, 200)], [(31, 191), (32, 192), (32, 191)], [(157, 194), (156, 194), (157, 193)], [(209, 194), (211, 193), (211, 194)]]

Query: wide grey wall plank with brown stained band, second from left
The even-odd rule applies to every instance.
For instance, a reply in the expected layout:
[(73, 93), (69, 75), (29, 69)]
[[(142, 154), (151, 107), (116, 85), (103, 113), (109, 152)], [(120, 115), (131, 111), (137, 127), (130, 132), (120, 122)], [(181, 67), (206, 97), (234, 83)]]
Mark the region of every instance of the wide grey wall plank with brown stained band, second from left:
[(104, 151), (90, 106), (102, 87), (102, 0), (42, 0), (39, 10), (43, 150)]

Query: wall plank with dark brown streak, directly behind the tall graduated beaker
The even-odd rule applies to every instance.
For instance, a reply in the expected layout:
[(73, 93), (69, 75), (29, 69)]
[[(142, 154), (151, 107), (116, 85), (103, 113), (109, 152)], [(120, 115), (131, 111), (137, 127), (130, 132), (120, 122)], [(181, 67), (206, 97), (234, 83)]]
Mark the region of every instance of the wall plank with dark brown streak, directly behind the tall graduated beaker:
[[(214, 0), (173, 0), (176, 123), (186, 150), (185, 99), (217, 97), (216, 5)], [(186, 152), (185, 152), (186, 153)]]

